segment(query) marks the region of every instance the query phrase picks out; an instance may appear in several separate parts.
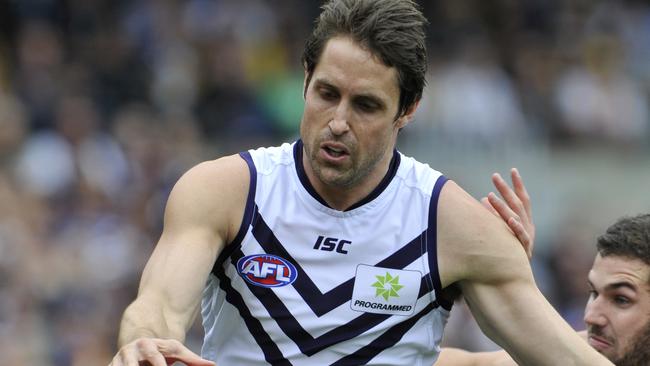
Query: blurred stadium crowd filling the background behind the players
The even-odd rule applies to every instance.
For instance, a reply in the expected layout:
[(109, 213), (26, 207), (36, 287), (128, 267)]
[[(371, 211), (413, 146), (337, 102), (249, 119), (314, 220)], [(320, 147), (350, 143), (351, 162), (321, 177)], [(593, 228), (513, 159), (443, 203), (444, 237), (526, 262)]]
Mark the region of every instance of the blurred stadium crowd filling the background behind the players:
[[(0, 0), (0, 364), (108, 363), (176, 179), (297, 138), (319, 5)], [(650, 6), (421, 5), (428, 86), (400, 149), (477, 198), (519, 167), (536, 279), (580, 329), (595, 238), (650, 211)], [(495, 347), (462, 303), (445, 342)]]

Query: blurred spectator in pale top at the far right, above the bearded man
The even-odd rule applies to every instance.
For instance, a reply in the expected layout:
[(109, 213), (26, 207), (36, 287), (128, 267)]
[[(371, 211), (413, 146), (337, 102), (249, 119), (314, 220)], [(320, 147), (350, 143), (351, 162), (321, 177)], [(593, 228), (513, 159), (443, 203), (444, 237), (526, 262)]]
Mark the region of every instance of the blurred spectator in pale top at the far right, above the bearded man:
[(583, 40), (581, 63), (557, 82), (556, 103), (571, 138), (641, 144), (648, 136), (648, 100), (623, 71), (620, 39), (594, 34)]

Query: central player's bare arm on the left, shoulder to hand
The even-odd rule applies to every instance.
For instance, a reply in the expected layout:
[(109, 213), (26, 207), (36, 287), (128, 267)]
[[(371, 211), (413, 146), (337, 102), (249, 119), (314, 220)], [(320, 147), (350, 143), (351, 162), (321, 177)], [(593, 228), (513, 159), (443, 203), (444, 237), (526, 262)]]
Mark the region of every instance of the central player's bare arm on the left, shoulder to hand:
[(217, 256), (239, 229), (248, 186), (248, 168), (239, 156), (199, 164), (179, 179), (138, 296), (124, 312), (112, 366), (144, 360), (154, 366), (174, 360), (213, 365), (182, 342)]

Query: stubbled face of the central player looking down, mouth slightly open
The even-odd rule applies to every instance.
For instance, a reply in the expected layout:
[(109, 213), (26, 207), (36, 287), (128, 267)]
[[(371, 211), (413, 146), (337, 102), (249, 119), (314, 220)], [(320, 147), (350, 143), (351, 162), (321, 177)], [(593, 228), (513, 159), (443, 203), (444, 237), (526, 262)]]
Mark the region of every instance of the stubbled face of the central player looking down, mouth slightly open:
[(305, 93), (300, 134), (315, 186), (350, 188), (383, 177), (397, 132), (397, 71), (346, 37), (327, 42)]

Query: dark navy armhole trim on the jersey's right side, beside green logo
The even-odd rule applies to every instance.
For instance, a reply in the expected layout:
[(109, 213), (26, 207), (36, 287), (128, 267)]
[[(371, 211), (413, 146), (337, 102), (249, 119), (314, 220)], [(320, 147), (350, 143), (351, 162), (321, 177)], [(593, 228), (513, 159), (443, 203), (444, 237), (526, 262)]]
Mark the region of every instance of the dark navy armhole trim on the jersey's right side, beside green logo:
[(442, 187), (449, 179), (441, 175), (433, 185), (431, 191), (431, 199), (429, 201), (429, 224), (427, 226), (426, 243), (427, 243), (427, 256), (429, 259), (429, 279), (436, 292), (436, 301), (445, 310), (451, 310), (453, 305), (452, 301), (442, 297), (442, 284), (440, 282), (440, 272), (438, 270), (438, 199)]

